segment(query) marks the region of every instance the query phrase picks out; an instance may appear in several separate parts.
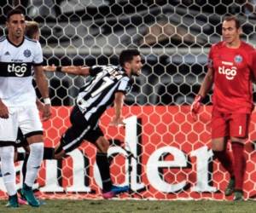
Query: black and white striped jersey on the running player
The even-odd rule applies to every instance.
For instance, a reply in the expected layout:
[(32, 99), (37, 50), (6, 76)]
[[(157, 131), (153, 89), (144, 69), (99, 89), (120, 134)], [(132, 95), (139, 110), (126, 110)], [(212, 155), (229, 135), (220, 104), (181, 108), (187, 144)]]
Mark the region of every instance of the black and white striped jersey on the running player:
[(131, 90), (132, 80), (121, 66), (92, 66), (93, 78), (79, 90), (77, 104), (87, 121), (97, 122), (102, 113), (111, 107), (116, 92), (126, 94)]

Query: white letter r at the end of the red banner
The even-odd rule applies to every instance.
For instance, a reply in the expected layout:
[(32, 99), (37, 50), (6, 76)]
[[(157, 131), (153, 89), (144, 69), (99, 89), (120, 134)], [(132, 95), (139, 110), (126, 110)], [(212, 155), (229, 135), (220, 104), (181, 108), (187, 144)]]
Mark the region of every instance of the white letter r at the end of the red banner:
[(192, 151), (190, 156), (196, 157), (196, 179), (195, 186), (191, 188), (194, 192), (216, 192), (216, 187), (209, 186), (208, 164), (213, 156), (212, 150), (207, 147), (201, 147)]

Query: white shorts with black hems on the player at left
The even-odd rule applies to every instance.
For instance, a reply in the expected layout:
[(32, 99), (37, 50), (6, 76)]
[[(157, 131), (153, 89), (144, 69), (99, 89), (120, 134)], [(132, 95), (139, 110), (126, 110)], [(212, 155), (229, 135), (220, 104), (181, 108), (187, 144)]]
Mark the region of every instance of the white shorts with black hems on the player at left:
[(19, 127), (22, 134), (27, 137), (43, 134), (43, 126), (36, 104), (26, 107), (8, 107), (8, 110), (9, 118), (0, 118), (0, 146), (1, 143), (15, 142)]

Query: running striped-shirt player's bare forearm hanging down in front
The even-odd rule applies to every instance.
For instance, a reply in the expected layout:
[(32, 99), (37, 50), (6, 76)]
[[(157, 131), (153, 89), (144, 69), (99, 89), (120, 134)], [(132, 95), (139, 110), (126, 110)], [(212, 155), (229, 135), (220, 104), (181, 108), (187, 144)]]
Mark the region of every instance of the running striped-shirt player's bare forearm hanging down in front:
[(125, 123), (123, 122), (123, 119), (121, 117), (121, 111), (122, 108), (124, 106), (124, 99), (125, 99), (125, 95), (122, 92), (117, 92), (114, 95), (114, 117), (113, 120), (110, 122), (110, 125), (113, 126), (118, 126), (119, 124), (121, 125), (125, 125)]

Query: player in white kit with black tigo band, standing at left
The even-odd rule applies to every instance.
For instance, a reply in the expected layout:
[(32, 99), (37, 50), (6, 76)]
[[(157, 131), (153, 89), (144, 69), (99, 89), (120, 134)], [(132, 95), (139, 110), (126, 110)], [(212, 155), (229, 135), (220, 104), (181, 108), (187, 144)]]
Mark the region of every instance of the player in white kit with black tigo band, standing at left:
[(43, 159), (44, 142), (36, 94), (32, 87), (32, 67), (38, 89), (44, 98), (43, 117), (49, 119), (50, 100), (42, 66), (43, 54), (38, 42), (24, 36), (25, 15), (19, 9), (9, 11), (6, 26), (8, 35), (0, 39), (0, 157), (3, 182), (9, 194), (9, 206), (18, 207), (13, 145), (20, 127), (30, 148), (21, 193), (29, 204), (38, 207), (32, 184)]

